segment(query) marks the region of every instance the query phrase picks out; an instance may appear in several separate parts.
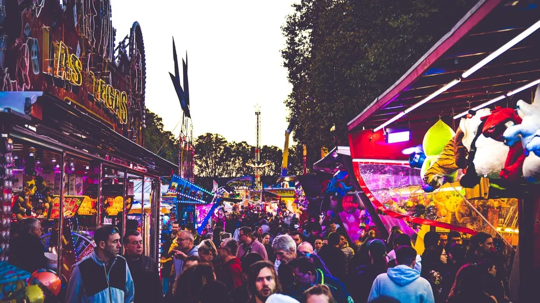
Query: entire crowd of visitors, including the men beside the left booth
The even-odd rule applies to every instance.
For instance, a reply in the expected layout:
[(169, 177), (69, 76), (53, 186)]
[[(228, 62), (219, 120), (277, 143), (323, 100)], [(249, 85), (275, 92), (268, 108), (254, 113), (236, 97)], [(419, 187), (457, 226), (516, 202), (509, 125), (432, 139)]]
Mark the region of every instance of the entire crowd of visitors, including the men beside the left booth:
[[(456, 231), (430, 231), (415, 239), (425, 247), (420, 255), (397, 226), (387, 239), (370, 230), (352, 242), (339, 223), (310, 216), (300, 225), (294, 216), (245, 210), (199, 235), (174, 222), (161, 273), (137, 230), (121, 235), (104, 225), (91, 256), (72, 267), (65, 302), (509, 302), (508, 262), (494, 250), (501, 239), (479, 232), (465, 245)], [(36, 219), (22, 222), (24, 242), (14, 240), (10, 251), (17, 266), (44, 266), (25, 261), (45, 251), (41, 231)]]

